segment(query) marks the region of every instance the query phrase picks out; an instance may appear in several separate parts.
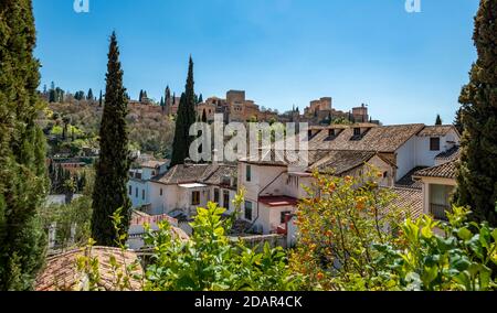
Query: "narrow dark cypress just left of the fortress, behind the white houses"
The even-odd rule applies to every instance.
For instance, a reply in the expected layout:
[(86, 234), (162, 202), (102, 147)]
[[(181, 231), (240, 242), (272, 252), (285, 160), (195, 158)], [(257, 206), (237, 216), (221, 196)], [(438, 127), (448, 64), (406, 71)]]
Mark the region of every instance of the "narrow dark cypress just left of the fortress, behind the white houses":
[(193, 79), (193, 60), (190, 57), (188, 66), (188, 78), (184, 94), (181, 95), (176, 120), (175, 141), (172, 143), (171, 166), (184, 164), (184, 159), (189, 156), (190, 144), (193, 141), (190, 137), (190, 127), (195, 122), (195, 91)]

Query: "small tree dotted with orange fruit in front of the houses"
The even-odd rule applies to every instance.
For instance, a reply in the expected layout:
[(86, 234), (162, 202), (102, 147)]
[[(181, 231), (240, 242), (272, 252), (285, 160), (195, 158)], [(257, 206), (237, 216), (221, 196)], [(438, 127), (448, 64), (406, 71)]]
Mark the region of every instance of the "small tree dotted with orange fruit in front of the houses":
[(374, 245), (395, 245), (402, 212), (394, 195), (379, 186), (371, 170), (360, 177), (314, 173), (309, 198), (298, 207), (298, 244), (290, 256), (294, 271), (309, 290), (383, 290), (395, 281), (376, 266)]

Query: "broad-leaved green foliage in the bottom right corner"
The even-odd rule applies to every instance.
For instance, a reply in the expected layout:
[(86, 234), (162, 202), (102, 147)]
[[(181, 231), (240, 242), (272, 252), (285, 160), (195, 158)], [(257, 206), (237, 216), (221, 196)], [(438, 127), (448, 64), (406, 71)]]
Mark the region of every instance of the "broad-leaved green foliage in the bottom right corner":
[[(497, 229), (467, 222), (470, 212), (454, 207), (450, 224), (427, 216), (402, 225), (403, 249), (377, 246), (381, 273), (393, 289), (488, 291), (497, 289)], [(440, 231), (442, 229), (442, 231)], [(442, 234), (437, 235), (440, 231)]]

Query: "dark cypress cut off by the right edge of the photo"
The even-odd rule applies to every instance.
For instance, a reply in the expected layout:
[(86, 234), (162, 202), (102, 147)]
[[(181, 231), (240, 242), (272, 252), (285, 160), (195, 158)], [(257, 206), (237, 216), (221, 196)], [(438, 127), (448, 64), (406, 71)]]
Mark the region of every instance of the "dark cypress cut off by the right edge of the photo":
[(473, 35), (478, 60), (461, 94), (464, 136), (456, 202), (497, 226), (497, 1), (480, 0)]

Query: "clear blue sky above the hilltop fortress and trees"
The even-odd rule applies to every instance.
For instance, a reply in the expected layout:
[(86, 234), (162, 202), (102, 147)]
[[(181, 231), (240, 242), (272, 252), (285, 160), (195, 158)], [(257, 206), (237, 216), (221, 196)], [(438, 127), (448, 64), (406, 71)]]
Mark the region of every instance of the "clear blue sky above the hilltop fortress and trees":
[(366, 102), (388, 125), (452, 122), (476, 60), (479, 0), (33, 0), (42, 85), (105, 89), (108, 35), (117, 32), (133, 98), (184, 88), (188, 56), (195, 90), (245, 89), (260, 106), (288, 110), (334, 98)]

